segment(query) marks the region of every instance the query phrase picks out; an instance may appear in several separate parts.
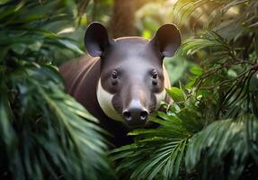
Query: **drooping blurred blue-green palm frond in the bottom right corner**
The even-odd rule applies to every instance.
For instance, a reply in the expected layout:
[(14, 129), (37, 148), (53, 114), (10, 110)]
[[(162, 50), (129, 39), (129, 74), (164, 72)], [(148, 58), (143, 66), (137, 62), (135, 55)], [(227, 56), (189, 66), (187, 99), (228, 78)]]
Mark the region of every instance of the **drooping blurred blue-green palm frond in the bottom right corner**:
[[(246, 164), (251, 157), (253, 163), (257, 163), (257, 119), (254, 116), (242, 118), (215, 121), (195, 134), (186, 151), (186, 169), (191, 172), (201, 162), (203, 179), (238, 179), (248, 168)], [(218, 172), (214, 174), (216, 168)]]

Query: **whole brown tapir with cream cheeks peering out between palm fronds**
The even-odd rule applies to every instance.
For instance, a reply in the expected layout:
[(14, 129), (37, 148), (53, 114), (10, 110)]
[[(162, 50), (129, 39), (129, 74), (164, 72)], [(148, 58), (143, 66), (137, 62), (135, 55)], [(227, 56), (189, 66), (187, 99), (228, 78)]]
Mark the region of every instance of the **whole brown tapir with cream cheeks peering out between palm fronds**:
[(148, 115), (161, 101), (170, 101), (170, 87), (163, 65), (181, 44), (173, 24), (161, 26), (152, 40), (141, 37), (111, 39), (102, 23), (85, 31), (85, 49), (90, 55), (67, 61), (59, 67), (67, 93), (93, 114), (112, 137), (111, 143), (129, 143), (129, 130), (150, 124)]

